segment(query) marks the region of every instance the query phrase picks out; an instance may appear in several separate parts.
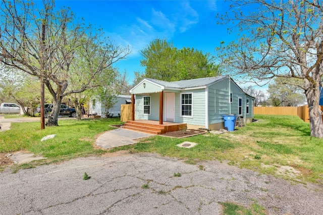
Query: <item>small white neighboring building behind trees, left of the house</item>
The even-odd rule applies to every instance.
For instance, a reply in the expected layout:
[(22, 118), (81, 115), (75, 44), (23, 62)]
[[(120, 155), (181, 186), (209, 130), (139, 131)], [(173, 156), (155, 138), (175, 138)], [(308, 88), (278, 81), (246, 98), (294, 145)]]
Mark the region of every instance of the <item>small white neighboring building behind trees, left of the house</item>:
[[(113, 97), (116, 100), (116, 104), (109, 110), (109, 114), (113, 114), (113, 116), (118, 116), (121, 114), (121, 105), (122, 104), (131, 104), (131, 96), (128, 95), (118, 95)], [(92, 98), (90, 99), (90, 111), (89, 114), (94, 114), (101, 117), (105, 117), (106, 110), (104, 104), (102, 104), (98, 99)]]

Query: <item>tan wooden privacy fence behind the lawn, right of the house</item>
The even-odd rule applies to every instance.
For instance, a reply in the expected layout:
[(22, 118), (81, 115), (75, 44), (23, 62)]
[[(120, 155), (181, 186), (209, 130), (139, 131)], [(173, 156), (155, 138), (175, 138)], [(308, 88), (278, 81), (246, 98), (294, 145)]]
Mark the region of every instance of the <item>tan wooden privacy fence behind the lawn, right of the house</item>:
[[(320, 109), (323, 110), (323, 106), (320, 106)], [(299, 116), (304, 122), (309, 122), (308, 105), (300, 107), (254, 107), (253, 113), (264, 115), (293, 115)]]

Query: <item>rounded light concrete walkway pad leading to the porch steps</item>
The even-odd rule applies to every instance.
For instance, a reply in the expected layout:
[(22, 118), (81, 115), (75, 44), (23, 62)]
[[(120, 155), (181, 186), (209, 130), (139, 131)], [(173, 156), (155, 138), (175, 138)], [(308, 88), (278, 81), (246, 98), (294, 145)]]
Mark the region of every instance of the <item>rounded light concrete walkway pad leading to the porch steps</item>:
[(101, 134), (96, 139), (96, 145), (103, 149), (112, 149), (115, 147), (136, 144), (138, 142), (136, 139), (149, 136), (153, 136), (153, 134), (117, 128)]

